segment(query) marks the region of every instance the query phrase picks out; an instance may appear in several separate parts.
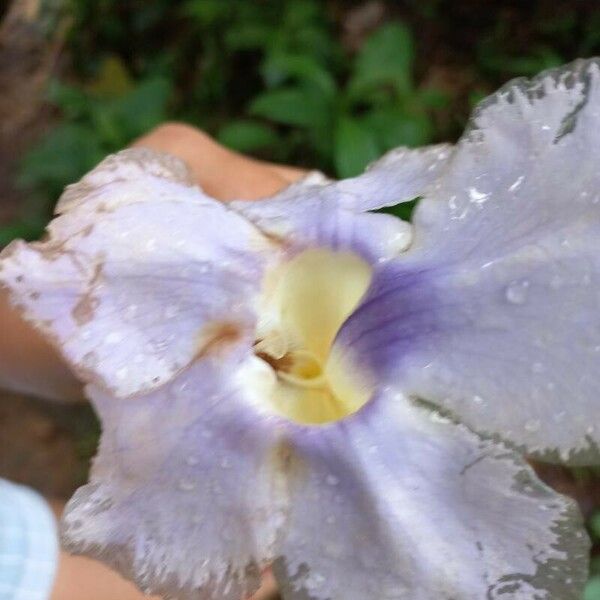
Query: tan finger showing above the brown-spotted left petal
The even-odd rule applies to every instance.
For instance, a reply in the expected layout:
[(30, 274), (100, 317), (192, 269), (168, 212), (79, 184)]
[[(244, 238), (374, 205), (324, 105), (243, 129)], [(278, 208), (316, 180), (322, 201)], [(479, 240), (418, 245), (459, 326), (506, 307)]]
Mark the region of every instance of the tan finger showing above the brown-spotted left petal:
[(178, 156), (206, 193), (220, 200), (271, 196), (303, 175), (299, 169), (274, 168), (242, 156), (199, 129), (179, 123), (161, 125), (133, 145)]

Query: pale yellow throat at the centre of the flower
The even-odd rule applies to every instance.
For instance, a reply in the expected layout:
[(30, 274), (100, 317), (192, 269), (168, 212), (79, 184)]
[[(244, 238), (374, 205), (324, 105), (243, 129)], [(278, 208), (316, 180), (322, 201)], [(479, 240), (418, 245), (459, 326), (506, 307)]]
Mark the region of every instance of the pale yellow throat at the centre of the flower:
[(364, 296), (371, 267), (349, 252), (312, 249), (268, 274), (255, 354), (275, 374), (266, 393), (276, 413), (297, 423), (338, 421), (371, 394), (335, 337)]

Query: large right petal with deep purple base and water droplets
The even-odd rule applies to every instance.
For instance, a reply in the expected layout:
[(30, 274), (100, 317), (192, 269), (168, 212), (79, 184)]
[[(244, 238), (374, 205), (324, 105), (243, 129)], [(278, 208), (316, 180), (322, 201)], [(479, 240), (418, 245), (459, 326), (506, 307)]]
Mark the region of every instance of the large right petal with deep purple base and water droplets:
[(546, 459), (600, 458), (600, 67), (484, 101), (340, 344)]

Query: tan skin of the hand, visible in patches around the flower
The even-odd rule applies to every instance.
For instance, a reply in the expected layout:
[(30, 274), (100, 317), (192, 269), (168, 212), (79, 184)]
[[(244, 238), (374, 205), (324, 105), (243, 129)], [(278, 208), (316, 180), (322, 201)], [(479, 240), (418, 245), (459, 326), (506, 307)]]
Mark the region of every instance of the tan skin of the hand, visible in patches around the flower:
[[(271, 196), (306, 173), (300, 169), (254, 160), (224, 148), (204, 132), (179, 123), (166, 123), (133, 146), (168, 152), (184, 160), (203, 190), (223, 201), (256, 200)], [(44, 398), (83, 398), (80, 383), (57, 352), (25, 323), (0, 290), (0, 386)], [(54, 505), (57, 516), (62, 505)], [(251, 600), (276, 597), (269, 572)], [(129, 582), (99, 562), (61, 553), (51, 600), (141, 600)]]

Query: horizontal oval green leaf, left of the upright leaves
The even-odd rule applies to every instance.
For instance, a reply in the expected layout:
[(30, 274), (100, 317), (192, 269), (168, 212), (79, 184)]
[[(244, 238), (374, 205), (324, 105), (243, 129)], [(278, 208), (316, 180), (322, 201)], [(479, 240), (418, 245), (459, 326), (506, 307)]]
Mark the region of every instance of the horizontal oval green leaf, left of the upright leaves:
[(250, 114), (296, 127), (323, 127), (331, 114), (326, 97), (306, 88), (263, 92), (249, 107)]

